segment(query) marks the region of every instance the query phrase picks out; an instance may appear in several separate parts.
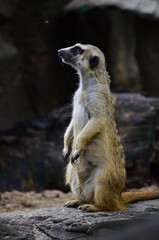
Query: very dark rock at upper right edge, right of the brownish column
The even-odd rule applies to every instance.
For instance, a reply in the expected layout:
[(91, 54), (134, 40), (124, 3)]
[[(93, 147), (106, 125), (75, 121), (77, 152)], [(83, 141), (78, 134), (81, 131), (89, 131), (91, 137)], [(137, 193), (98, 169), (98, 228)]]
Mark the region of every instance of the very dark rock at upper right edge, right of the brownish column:
[[(159, 2), (158, 2), (159, 3)], [(159, 20), (136, 19), (136, 52), (143, 90), (159, 95)]]

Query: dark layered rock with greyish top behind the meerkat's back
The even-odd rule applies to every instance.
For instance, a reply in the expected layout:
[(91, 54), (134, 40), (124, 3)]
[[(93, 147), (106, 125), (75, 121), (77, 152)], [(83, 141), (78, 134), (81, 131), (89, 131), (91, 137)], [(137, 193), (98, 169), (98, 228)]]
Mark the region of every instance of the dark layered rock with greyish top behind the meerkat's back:
[[(124, 145), (127, 184), (141, 187), (151, 179), (151, 162), (156, 159), (158, 99), (140, 94), (116, 94), (115, 118)], [(151, 142), (152, 141), (152, 142)], [(155, 144), (154, 144), (155, 143)]]

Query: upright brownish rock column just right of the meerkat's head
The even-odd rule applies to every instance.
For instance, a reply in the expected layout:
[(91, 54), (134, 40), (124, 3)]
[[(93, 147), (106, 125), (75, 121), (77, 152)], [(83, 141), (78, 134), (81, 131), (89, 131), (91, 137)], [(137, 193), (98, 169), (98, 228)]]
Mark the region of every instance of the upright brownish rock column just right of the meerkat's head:
[[(119, 10), (103, 9), (102, 19), (107, 16), (107, 29), (111, 25), (109, 37), (103, 36), (108, 70), (114, 89), (141, 91), (140, 68), (136, 59), (135, 16)], [(107, 30), (108, 31), (108, 30)]]

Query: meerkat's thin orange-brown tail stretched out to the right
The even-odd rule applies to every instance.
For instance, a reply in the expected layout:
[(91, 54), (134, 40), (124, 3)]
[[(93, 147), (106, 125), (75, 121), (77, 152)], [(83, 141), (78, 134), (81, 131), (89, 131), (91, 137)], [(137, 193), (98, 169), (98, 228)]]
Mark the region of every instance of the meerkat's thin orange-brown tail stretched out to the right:
[(125, 204), (159, 198), (159, 192), (123, 192), (122, 199)]

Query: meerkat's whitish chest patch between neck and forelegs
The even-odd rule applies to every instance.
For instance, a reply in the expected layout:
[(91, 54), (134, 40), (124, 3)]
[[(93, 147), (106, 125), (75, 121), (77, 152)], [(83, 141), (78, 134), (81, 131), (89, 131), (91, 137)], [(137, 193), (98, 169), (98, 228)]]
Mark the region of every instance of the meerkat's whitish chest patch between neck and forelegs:
[(74, 132), (78, 134), (89, 120), (89, 111), (86, 96), (78, 92), (74, 99), (73, 106)]

